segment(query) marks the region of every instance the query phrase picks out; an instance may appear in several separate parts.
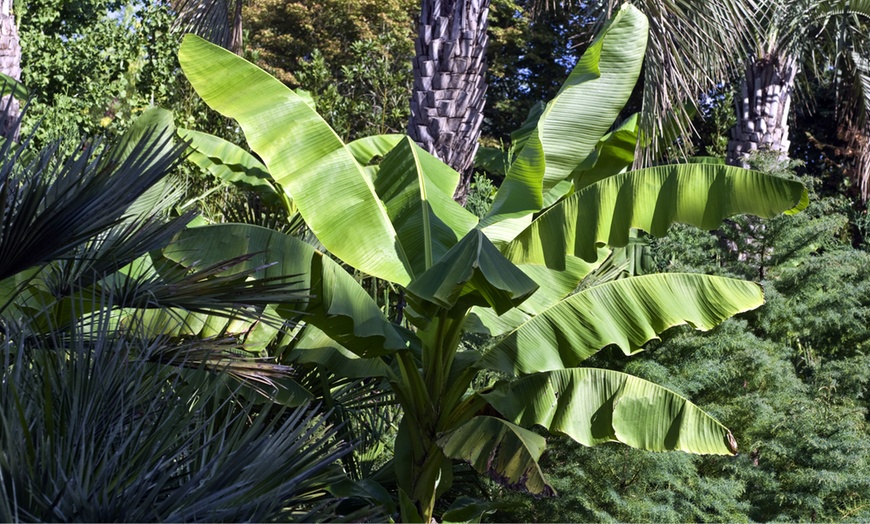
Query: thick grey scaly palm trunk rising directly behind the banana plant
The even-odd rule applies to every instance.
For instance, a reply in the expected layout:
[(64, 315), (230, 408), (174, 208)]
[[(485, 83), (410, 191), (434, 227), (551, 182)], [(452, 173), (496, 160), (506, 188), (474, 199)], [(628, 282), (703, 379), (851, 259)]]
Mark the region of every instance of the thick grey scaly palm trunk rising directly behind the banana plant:
[(423, 0), (408, 134), (459, 172), (465, 203), (486, 95), (489, 0)]

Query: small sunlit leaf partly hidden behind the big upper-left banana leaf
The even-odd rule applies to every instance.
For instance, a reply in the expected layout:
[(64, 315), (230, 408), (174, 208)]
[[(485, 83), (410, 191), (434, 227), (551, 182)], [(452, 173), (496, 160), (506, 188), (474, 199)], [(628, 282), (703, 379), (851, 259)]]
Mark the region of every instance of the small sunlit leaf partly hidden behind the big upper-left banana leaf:
[(224, 182), (254, 191), (268, 202), (282, 202), (281, 190), (275, 187), (269, 169), (254, 155), (208, 133), (179, 129), (178, 135), (190, 142), (191, 154), (188, 159), (201, 169)]

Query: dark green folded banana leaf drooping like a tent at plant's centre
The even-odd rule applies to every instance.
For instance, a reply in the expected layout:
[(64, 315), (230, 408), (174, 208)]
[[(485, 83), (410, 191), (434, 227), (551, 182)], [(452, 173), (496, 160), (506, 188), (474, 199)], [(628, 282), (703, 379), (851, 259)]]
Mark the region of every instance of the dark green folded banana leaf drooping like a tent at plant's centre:
[(501, 314), (528, 298), (538, 285), (506, 260), (478, 229), (471, 230), (435, 265), (408, 286), (417, 313), (431, 318), (429, 304), (452, 309), (488, 305)]

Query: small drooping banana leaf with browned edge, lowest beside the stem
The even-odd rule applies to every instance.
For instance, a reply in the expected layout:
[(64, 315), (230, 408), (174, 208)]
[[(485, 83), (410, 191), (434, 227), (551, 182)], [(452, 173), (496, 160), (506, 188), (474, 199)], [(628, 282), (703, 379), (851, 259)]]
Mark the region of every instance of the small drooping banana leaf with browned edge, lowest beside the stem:
[(438, 446), (446, 457), (465, 460), (503, 486), (556, 495), (538, 465), (547, 446), (544, 437), (506, 420), (474, 417), (438, 439)]

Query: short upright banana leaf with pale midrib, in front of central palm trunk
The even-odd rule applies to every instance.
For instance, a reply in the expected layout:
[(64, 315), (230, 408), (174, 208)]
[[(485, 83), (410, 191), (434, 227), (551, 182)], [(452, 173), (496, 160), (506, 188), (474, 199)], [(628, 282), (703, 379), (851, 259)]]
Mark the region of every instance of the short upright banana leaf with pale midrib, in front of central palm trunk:
[(415, 278), (477, 225), (477, 217), (453, 200), (458, 183), (459, 173), (407, 137), (381, 162), (375, 191)]

